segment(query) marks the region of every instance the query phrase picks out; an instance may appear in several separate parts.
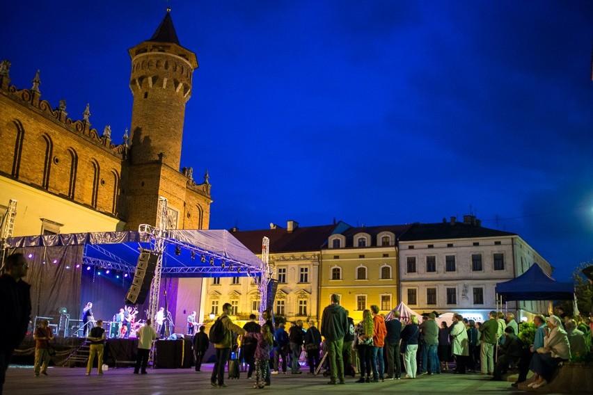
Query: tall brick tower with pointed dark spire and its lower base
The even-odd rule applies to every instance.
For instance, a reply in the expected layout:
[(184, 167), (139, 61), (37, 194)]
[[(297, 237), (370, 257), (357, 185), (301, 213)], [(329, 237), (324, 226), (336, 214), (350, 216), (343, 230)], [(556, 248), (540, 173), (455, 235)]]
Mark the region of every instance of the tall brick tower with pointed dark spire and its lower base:
[(196, 185), (193, 170), (180, 172), (185, 104), (198, 61), (180, 45), (169, 11), (150, 40), (129, 49), (134, 104), (123, 193), (127, 229), (156, 225), (159, 196), (168, 199), (171, 228), (207, 229), (209, 223), (207, 176)]

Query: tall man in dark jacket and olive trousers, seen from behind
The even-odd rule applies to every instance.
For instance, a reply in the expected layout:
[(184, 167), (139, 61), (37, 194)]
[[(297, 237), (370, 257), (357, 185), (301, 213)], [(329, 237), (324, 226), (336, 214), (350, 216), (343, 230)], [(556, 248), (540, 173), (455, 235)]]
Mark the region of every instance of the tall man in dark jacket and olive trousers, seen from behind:
[(348, 330), (346, 310), (340, 306), (340, 296), (333, 293), (331, 304), (323, 310), (322, 336), (325, 338), (329, 357), (331, 380), (328, 384), (345, 383), (344, 360), (342, 360), (342, 346), (344, 335)]

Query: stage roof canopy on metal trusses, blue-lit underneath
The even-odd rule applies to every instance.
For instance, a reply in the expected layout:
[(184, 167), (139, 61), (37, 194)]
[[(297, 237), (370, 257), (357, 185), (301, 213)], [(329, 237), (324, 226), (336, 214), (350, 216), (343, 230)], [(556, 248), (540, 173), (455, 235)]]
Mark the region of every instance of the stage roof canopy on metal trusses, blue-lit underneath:
[[(140, 231), (21, 236), (7, 240), (10, 249), (25, 253), (38, 248), (84, 245), (81, 263), (133, 273), (140, 250), (164, 241), (162, 275), (171, 277), (259, 276), (266, 265), (226, 230), (159, 231), (141, 225)], [(155, 236), (157, 235), (157, 236)]]

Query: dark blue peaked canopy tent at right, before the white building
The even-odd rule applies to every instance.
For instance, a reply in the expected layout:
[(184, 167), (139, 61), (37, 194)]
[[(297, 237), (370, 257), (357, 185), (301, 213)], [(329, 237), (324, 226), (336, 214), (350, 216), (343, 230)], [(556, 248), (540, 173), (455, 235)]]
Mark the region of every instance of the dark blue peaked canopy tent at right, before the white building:
[(574, 284), (557, 282), (538, 264), (513, 280), (496, 284), (496, 293), (504, 302), (512, 300), (574, 300)]

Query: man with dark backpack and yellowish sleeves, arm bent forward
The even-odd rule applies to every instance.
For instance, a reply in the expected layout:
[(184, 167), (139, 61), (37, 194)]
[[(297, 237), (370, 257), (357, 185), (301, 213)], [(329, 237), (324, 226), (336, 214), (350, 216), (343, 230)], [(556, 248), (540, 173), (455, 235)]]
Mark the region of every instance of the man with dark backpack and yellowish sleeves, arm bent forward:
[(216, 349), (216, 362), (214, 362), (212, 376), (210, 377), (212, 387), (226, 387), (224, 382), (224, 366), (230, 356), (232, 332), (239, 335), (246, 333), (239, 325), (232, 323), (228, 316), (232, 310), (230, 303), (225, 303), (222, 310), (223, 313), (214, 321), (214, 325), (210, 328), (209, 333), (210, 342), (214, 343), (214, 348)]

